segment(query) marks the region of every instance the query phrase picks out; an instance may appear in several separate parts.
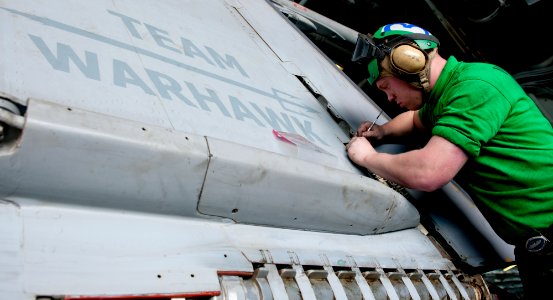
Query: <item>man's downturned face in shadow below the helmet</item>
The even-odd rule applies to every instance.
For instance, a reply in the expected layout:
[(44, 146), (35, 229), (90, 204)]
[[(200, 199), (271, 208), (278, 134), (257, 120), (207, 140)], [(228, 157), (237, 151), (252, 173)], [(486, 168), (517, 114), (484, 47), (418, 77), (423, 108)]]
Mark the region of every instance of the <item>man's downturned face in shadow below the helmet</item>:
[(376, 87), (386, 93), (388, 101), (408, 110), (417, 110), (422, 106), (422, 91), (407, 82), (393, 76), (376, 81)]

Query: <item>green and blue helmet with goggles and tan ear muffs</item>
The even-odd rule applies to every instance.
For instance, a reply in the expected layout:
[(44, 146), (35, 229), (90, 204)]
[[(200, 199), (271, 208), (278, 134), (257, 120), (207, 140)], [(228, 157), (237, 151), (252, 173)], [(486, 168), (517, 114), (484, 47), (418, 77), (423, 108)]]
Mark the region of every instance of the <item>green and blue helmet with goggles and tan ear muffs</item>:
[(380, 27), (373, 37), (359, 35), (354, 61), (368, 64), (371, 85), (394, 76), (429, 92), (430, 61), (439, 41), (427, 30), (408, 23)]

